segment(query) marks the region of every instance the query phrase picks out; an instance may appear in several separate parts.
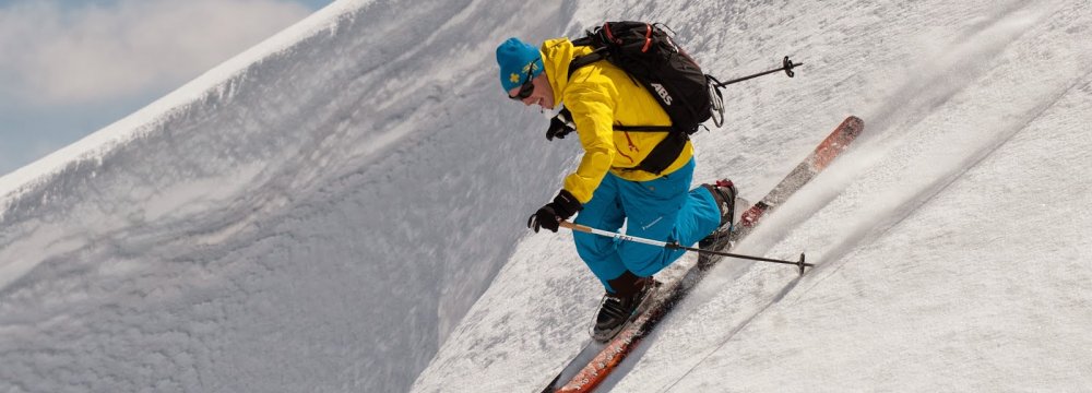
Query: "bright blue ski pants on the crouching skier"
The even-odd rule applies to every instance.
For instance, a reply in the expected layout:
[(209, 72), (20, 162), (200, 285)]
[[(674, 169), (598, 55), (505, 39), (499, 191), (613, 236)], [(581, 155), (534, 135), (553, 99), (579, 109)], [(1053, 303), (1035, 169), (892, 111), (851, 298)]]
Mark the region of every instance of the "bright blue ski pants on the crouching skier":
[[(650, 181), (629, 181), (608, 172), (577, 215), (574, 223), (660, 241), (691, 246), (721, 223), (721, 212), (704, 187), (690, 190), (695, 162)], [(577, 253), (607, 290), (608, 281), (627, 270), (648, 277), (675, 262), (685, 251), (573, 233)]]

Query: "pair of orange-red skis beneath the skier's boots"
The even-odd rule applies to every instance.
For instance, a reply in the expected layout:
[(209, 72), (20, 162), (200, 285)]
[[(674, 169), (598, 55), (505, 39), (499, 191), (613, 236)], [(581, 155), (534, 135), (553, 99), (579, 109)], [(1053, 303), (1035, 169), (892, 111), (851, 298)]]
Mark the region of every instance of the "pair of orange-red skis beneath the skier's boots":
[[(862, 131), (864, 121), (860, 118), (851, 116), (842, 121), (778, 186), (743, 213), (739, 223), (733, 227), (729, 241), (716, 251), (731, 250), (743, 240), (765, 214), (788, 200), (793, 193), (826, 169)], [(554, 378), (543, 393), (590, 392), (595, 389), (722, 258), (716, 254), (699, 254), (698, 263), (687, 270), (680, 278), (663, 283), (656, 294), (645, 300), (652, 302), (645, 311), (630, 321), (614, 338), (606, 344), (589, 341), (583, 350)]]

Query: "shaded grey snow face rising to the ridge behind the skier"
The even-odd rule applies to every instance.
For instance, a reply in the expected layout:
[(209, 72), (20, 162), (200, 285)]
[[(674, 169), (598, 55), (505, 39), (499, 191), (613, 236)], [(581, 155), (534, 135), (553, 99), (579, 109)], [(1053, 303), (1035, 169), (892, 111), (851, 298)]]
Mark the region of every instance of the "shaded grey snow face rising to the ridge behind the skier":
[(513, 138), (542, 118), (483, 66), (556, 10), (413, 5), (337, 2), (0, 178), (0, 391), (407, 390), (575, 151)]

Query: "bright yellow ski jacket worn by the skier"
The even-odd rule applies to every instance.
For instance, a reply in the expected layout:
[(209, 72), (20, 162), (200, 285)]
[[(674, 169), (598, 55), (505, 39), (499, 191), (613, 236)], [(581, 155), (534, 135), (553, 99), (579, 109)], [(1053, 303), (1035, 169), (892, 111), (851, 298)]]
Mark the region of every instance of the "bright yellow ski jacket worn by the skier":
[(565, 189), (580, 203), (587, 203), (607, 171), (631, 181), (648, 181), (674, 172), (690, 162), (688, 141), (678, 158), (661, 175), (634, 168), (667, 132), (624, 132), (614, 126), (670, 126), (672, 120), (644, 86), (607, 61), (577, 69), (569, 78), (569, 63), (590, 53), (591, 47), (574, 47), (568, 38), (548, 39), (541, 48), (546, 76), (554, 87), (554, 107), (563, 103), (572, 112), (584, 156), (577, 171), (565, 178)]

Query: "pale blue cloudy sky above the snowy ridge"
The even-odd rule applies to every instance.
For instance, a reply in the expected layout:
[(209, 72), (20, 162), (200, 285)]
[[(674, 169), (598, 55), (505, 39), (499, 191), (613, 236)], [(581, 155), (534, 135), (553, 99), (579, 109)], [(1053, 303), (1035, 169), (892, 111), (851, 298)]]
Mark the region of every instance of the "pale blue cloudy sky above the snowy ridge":
[(0, 0), (0, 176), (332, 0)]

